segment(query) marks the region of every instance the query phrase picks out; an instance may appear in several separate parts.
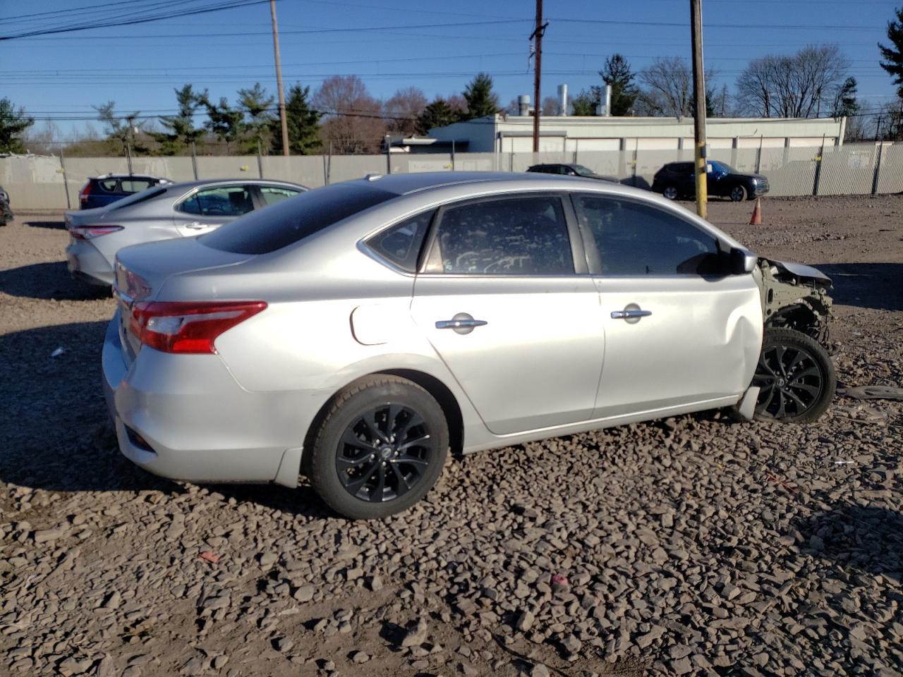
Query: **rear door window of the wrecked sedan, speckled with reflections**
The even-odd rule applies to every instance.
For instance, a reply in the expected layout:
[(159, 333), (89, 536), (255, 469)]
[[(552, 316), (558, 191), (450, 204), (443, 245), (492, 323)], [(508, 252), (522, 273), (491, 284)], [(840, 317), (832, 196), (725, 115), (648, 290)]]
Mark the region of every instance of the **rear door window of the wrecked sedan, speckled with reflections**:
[(573, 274), (561, 199), (492, 199), (442, 212), (427, 273)]

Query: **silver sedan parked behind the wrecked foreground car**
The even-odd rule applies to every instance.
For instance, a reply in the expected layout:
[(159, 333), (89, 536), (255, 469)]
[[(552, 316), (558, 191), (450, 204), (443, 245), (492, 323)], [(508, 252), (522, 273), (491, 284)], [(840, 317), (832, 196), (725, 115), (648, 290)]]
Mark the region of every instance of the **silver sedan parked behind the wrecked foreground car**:
[(98, 209), (67, 211), (70, 273), (108, 286), (114, 257), (124, 246), (202, 235), (303, 190), (285, 181), (189, 181), (154, 186)]

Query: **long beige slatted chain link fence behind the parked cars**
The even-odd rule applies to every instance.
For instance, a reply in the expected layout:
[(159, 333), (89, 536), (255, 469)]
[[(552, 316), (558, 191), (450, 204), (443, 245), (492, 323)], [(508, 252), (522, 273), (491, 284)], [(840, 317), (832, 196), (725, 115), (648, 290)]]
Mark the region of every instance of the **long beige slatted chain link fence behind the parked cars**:
[[(714, 148), (713, 160), (768, 177), (769, 195), (869, 195), (903, 192), (903, 144)], [(690, 162), (692, 149), (565, 153), (390, 153), (383, 155), (194, 155), (169, 157), (0, 158), (0, 185), (14, 209), (78, 209), (89, 177), (129, 172), (172, 181), (266, 178), (317, 188), (368, 173), (523, 172), (532, 164), (578, 162), (621, 183), (648, 189), (667, 162)]]

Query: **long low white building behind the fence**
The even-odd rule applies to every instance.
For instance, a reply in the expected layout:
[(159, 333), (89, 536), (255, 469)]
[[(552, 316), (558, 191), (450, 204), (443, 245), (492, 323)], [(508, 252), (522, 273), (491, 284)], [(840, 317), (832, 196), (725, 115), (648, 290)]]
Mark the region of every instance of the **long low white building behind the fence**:
[[(799, 148), (841, 145), (846, 118), (712, 117), (706, 120), (708, 146)], [(477, 117), (434, 127), (430, 138), (467, 142), (470, 153), (530, 153), (533, 116)], [(694, 146), (693, 118), (541, 116), (541, 153), (593, 151), (670, 151)]]

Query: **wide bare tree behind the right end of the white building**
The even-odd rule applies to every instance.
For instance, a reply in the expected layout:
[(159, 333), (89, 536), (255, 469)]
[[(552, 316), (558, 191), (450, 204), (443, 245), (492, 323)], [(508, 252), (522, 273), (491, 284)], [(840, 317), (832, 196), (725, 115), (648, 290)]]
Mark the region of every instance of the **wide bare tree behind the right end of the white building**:
[(752, 60), (737, 80), (743, 112), (762, 117), (815, 117), (831, 107), (850, 64), (837, 45), (809, 45), (791, 56)]

